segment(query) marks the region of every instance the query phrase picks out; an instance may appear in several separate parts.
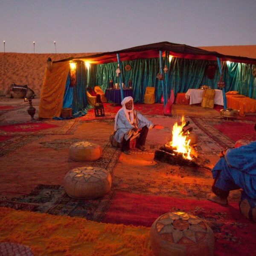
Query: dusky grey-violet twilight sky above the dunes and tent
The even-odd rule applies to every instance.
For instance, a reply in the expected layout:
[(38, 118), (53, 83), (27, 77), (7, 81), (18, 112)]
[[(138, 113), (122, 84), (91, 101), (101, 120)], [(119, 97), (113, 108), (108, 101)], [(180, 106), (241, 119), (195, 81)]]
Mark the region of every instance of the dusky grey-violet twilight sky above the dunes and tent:
[(256, 0), (0, 0), (0, 52), (256, 44)]

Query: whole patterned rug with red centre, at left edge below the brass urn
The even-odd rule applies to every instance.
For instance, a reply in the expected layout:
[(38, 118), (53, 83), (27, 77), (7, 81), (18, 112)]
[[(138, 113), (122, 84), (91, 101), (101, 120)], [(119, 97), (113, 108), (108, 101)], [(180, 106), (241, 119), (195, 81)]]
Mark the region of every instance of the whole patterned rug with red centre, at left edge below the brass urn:
[(47, 120), (45, 122), (6, 122), (0, 125), (1, 136), (21, 136), (21, 135), (63, 135), (74, 134), (79, 124), (78, 119), (70, 120)]

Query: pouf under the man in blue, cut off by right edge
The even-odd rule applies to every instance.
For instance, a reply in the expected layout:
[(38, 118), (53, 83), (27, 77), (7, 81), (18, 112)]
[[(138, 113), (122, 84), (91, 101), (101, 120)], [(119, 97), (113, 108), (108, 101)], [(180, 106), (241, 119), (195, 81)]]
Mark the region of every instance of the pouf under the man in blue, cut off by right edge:
[(244, 191), (241, 193), (239, 209), (245, 218), (256, 222), (256, 199), (250, 198)]

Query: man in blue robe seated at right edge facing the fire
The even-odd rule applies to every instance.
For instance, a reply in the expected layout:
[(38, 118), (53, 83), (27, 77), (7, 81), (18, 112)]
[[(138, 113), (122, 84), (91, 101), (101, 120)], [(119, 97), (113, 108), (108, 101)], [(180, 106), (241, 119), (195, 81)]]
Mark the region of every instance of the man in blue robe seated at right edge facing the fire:
[[(256, 130), (256, 125), (254, 128)], [(250, 198), (256, 199), (256, 141), (221, 151), (220, 157), (212, 169), (214, 195), (208, 200), (226, 205), (229, 192), (234, 189), (243, 189)]]

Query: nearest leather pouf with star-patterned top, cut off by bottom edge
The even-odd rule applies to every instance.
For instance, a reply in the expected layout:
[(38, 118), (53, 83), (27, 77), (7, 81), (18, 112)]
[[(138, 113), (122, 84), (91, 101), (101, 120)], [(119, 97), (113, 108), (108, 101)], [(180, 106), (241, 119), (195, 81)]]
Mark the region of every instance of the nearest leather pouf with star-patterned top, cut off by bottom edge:
[(157, 256), (213, 255), (214, 235), (200, 218), (186, 212), (168, 212), (150, 229), (151, 247)]

